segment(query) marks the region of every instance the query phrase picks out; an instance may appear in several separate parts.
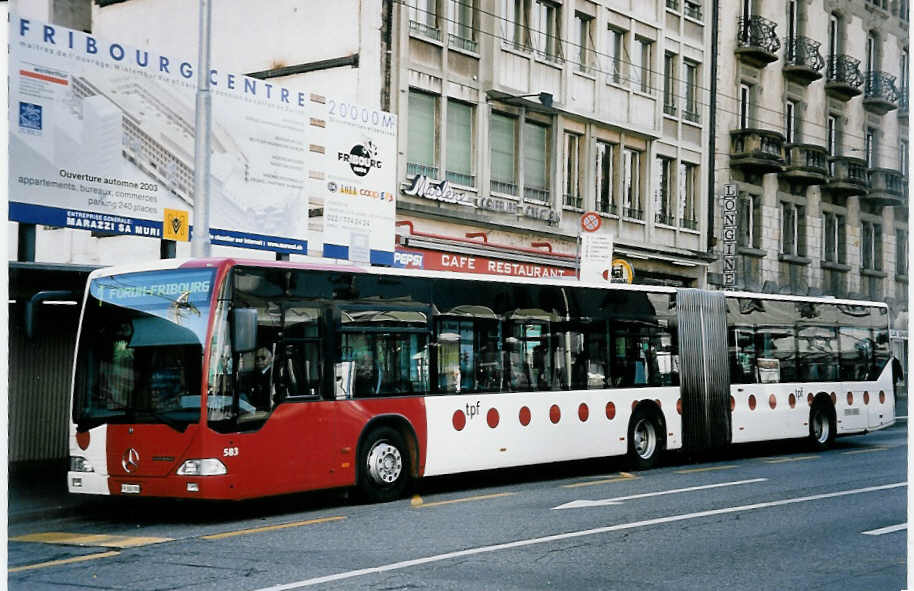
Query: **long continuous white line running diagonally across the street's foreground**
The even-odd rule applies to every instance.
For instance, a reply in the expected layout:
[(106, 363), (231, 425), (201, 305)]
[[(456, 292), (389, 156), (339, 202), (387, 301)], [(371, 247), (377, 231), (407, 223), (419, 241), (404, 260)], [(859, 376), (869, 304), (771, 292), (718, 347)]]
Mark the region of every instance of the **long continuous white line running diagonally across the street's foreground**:
[(323, 577), (315, 577), (313, 579), (305, 579), (303, 581), (298, 581), (295, 583), (286, 583), (283, 585), (274, 585), (272, 587), (264, 587), (259, 591), (288, 591), (290, 589), (301, 589), (303, 587), (310, 587), (312, 585), (320, 585), (322, 583), (333, 583), (336, 581), (343, 581), (346, 579), (353, 579), (355, 577), (361, 577), (364, 575), (372, 575), (385, 573), (395, 570), (402, 570), (404, 568), (410, 568), (413, 566), (422, 566), (425, 564), (431, 564), (433, 562), (441, 562), (442, 560), (451, 560), (453, 558), (462, 558), (464, 556), (474, 556), (477, 554), (487, 554), (489, 552), (498, 552), (500, 550), (513, 550), (514, 548), (523, 548), (525, 546), (533, 546), (535, 544), (545, 544), (549, 542), (558, 542), (561, 540), (568, 540), (572, 538), (580, 538), (584, 536), (593, 536), (598, 534), (605, 534), (614, 531), (622, 531), (627, 529), (635, 529), (639, 527), (648, 527), (651, 525), (660, 525), (663, 523), (673, 523), (676, 521), (685, 521), (687, 519), (698, 519), (700, 517), (712, 517), (714, 515), (725, 515), (727, 513), (738, 513), (740, 511), (754, 511), (756, 509), (767, 509), (768, 507), (780, 507), (783, 505), (793, 505), (796, 503), (806, 503), (809, 501), (818, 501), (821, 499), (831, 499), (835, 497), (844, 497), (848, 495), (857, 495), (868, 492), (876, 492), (881, 490), (889, 490), (893, 488), (898, 488), (901, 486), (907, 486), (907, 482), (896, 482), (894, 484), (884, 484), (882, 486), (869, 486), (867, 488), (858, 488), (853, 490), (842, 490), (833, 493), (825, 493), (821, 495), (813, 495), (809, 497), (797, 497), (795, 499), (782, 499), (780, 501), (770, 501), (767, 503), (756, 503), (754, 505), (741, 505), (739, 507), (725, 507), (723, 509), (712, 509), (709, 511), (699, 511), (697, 513), (686, 513), (683, 515), (671, 515), (670, 517), (659, 517), (657, 519), (647, 519), (644, 521), (635, 521), (632, 523), (620, 523), (618, 525), (610, 525), (606, 527), (598, 527), (594, 529), (585, 529), (581, 531), (573, 531), (564, 534), (556, 534), (552, 536), (545, 536), (542, 538), (530, 538), (527, 540), (517, 540), (516, 542), (508, 542), (505, 544), (494, 544), (492, 546), (480, 546), (477, 548), (467, 548), (466, 550), (459, 550), (457, 552), (447, 552), (445, 554), (436, 554), (434, 556), (426, 556), (424, 558), (416, 558), (413, 560), (404, 560), (402, 562), (393, 562), (391, 564), (384, 564), (381, 566), (374, 566), (370, 568), (362, 568), (358, 570), (351, 570), (342, 573), (336, 573), (333, 575), (326, 575)]

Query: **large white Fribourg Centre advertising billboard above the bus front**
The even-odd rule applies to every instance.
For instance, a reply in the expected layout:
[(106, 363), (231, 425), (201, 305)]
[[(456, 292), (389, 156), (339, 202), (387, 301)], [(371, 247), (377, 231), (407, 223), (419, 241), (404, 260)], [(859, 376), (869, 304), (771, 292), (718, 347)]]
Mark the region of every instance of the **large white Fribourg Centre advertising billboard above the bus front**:
[[(396, 118), (217, 67), (210, 83), (213, 244), (307, 254), (323, 206), (325, 256), (392, 261)], [(188, 239), (196, 84), (185, 56), (11, 15), (9, 219)]]

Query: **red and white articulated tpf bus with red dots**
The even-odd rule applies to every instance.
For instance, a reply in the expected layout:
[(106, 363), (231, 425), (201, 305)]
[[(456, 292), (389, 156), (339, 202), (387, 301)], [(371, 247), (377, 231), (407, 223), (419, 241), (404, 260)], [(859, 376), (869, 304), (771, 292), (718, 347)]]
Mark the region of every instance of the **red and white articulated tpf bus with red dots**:
[(895, 422), (884, 304), (242, 260), (92, 273), (70, 492), (248, 499)]

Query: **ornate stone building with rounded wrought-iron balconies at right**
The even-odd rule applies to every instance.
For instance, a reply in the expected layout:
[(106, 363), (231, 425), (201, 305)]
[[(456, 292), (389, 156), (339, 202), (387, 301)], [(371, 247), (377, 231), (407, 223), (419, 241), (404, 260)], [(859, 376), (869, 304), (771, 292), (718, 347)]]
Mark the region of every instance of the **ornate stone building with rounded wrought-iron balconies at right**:
[(907, 1), (720, 6), (714, 168), (738, 211), (711, 282), (887, 301), (906, 361)]

